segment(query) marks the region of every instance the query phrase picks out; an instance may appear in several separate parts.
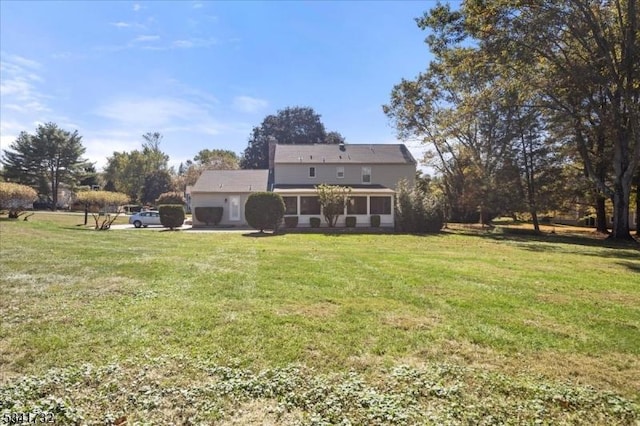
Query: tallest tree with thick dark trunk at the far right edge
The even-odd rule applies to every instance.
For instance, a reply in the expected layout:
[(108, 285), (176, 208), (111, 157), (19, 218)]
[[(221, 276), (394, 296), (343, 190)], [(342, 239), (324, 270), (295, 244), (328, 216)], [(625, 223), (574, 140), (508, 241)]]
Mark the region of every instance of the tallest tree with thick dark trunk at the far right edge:
[[(514, 77), (540, 95), (547, 114), (573, 126), (571, 143), (586, 175), (613, 202), (614, 239), (632, 238), (631, 182), (640, 162), (639, 15), (637, 0), (471, 1), (453, 25), (464, 30), (445, 31), (466, 32), (490, 61), (529, 68), (526, 81)], [(605, 145), (594, 150), (598, 132)], [(604, 180), (600, 161), (610, 170)]]

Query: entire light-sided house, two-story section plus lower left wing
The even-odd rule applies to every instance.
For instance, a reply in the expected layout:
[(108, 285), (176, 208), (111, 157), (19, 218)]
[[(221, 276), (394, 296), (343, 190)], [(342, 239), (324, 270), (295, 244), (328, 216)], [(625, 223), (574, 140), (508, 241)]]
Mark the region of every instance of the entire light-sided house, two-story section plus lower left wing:
[[(351, 188), (336, 226), (344, 226), (346, 216), (369, 226), (379, 215), (381, 226), (392, 227), (396, 185), (405, 179), (412, 186), (415, 179), (416, 161), (403, 144), (274, 145), (269, 151), (269, 170), (204, 171), (191, 191), (192, 211), (223, 207), (221, 224), (244, 226), (247, 197), (266, 189), (283, 197), (285, 216), (308, 227), (310, 218), (322, 218), (315, 187), (324, 183)], [(203, 224), (194, 217), (193, 225)]]

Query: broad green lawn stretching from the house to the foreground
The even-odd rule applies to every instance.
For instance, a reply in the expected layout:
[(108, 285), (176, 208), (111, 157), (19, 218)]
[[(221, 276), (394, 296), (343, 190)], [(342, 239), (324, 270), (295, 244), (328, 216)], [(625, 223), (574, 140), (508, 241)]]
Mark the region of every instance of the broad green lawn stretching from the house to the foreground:
[[(0, 409), (60, 424), (637, 424), (640, 250), (0, 221)], [(145, 423), (146, 422), (146, 423)]]

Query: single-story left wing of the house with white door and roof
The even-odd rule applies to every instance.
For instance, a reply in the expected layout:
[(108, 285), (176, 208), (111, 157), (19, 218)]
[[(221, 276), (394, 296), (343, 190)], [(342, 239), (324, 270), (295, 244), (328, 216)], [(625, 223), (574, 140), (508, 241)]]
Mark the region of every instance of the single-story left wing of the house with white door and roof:
[(203, 227), (196, 214), (198, 207), (222, 207), (223, 226), (247, 226), (244, 205), (253, 192), (267, 190), (268, 170), (205, 170), (191, 188), (193, 226)]

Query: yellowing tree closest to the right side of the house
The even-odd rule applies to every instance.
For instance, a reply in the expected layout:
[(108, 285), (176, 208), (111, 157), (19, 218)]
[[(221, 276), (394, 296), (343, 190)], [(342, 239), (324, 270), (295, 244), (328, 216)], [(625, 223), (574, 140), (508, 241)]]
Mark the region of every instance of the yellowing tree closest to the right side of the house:
[(445, 177), (453, 219), (487, 224), (522, 200), (518, 179), (512, 178), (508, 87), (491, 69), (474, 66), (478, 57), (472, 49), (440, 49), (427, 72), (394, 87), (384, 112), (402, 138), (417, 136), (432, 147), (428, 155)]

